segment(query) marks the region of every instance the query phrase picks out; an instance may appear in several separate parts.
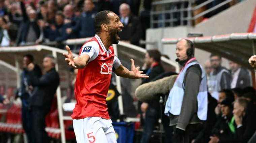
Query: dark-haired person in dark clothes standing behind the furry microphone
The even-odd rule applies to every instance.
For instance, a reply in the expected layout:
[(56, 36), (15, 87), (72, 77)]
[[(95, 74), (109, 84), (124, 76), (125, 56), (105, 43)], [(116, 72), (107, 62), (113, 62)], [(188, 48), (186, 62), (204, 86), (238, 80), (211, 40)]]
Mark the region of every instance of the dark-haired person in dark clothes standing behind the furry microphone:
[[(158, 50), (147, 50), (145, 54), (145, 64), (142, 67), (142, 70), (149, 76), (149, 78), (143, 79), (141, 84), (150, 82), (153, 78), (164, 72), (160, 60), (161, 53)], [(149, 143), (155, 123), (159, 119), (159, 108), (159, 100), (155, 99), (143, 102), (140, 105), (141, 112), (145, 114), (143, 133), (140, 143)]]

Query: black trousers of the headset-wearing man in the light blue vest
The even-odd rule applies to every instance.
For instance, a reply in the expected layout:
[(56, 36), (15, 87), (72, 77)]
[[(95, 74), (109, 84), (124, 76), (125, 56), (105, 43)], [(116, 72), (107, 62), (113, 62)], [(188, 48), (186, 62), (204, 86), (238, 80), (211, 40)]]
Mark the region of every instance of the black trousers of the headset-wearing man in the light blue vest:
[(197, 131), (198, 124), (189, 124), (183, 135), (176, 134), (176, 125), (172, 127), (174, 131), (173, 143), (191, 143), (194, 134)]

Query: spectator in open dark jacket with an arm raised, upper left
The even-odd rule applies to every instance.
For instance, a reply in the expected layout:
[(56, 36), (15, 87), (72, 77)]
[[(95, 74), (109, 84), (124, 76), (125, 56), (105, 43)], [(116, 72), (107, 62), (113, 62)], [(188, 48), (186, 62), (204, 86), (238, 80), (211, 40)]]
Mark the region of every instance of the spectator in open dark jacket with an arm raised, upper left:
[[(37, 24), (36, 11), (32, 8), (25, 8), (23, 0), (20, 2), (23, 22), (18, 33), (18, 44), (34, 43), (40, 36), (40, 28)], [(28, 13), (27, 13), (28, 12)]]

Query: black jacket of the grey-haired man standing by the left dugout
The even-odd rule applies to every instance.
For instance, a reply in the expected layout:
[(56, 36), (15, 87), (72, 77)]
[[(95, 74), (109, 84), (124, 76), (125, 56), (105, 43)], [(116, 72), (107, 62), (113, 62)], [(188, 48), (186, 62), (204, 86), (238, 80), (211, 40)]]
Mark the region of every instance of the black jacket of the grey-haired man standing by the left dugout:
[(28, 72), (28, 75), (31, 85), (34, 87), (30, 105), (51, 106), (56, 89), (60, 84), (60, 77), (55, 68), (47, 71), (41, 78), (37, 78), (33, 71)]

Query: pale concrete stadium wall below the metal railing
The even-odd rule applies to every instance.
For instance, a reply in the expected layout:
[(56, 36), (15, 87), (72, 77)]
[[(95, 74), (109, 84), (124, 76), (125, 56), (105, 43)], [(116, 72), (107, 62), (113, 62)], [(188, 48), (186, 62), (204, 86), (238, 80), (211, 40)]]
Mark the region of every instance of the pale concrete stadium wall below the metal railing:
[[(168, 55), (172, 61), (175, 61), (175, 45), (161, 45), (162, 38), (187, 37), (190, 32), (202, 33), (204, 36), (247, 32), (255, 6), (255, 0), (245, 0), (211, 17), (207, 21), (197, 24), (195, 27), (178, 26), (148, 29), (146, 41), (156, 42), (156, 44), (147, 45), (146, 48), (155, 49), (159, 47), (158, 49), (162, 54)], [(201, 64), (204, 64), (206, 59), (209, 59), (210, 54), (203, 50), (195, 50), (195, 57)], [(229, 68), (228, 60), (223, 58), (222, 65)]]

